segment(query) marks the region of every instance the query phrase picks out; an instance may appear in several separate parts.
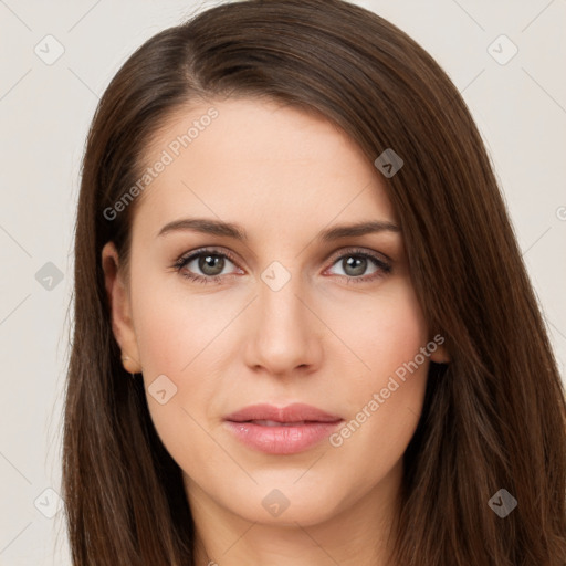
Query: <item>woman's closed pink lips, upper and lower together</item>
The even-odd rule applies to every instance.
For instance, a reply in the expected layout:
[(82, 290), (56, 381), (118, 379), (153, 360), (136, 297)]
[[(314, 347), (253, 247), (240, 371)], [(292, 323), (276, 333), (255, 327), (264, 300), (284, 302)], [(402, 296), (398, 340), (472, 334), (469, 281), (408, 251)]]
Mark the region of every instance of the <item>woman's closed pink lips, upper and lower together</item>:
[[(327, 438), (343, 420), (340, 417), (303, 403), (282, 408), (253, 405), (224, 419), (228, 429), (241, 442), (269, 454), (294, 454), (307, 450)], [(268, 426), (262, 421), (282, 424)]]

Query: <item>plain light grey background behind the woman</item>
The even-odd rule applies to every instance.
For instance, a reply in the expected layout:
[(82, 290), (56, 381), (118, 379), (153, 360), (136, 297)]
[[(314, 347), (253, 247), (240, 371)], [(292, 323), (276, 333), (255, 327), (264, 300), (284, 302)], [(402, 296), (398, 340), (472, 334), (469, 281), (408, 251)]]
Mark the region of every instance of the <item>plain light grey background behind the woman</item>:
[[(566, 1), (356, 3), (415, 38), (463, 93), (501, 180), (564, 376)], [(212, 4), (0, 0), (2, 566), (70, 564), (56, 493), (72, 231), (90, 120), (137, 46)], [(49, 34), (64, 49), (51, 65), (43, 59), (56, 54), (57, 43), (45, 40)], [(513, 44), (518, 52), (501, 64)], [(49, 279), (49, 262), (61, 272), (60, 283)]]

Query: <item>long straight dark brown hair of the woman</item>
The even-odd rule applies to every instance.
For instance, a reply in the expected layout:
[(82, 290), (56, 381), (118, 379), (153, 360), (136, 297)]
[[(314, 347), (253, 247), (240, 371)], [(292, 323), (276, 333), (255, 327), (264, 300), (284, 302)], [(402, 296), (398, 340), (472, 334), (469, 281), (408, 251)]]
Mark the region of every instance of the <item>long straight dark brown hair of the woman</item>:
[[(566, 564), (565, 391), (489, 156), (458, 90), (402, 31), (340, 0), (216, 7), (149, 39), (102, 97), (75, 228), (74, 336), (63, 496), (76, 566), (189, 565), (181, 471), (120, 364), (101, 250), (127, 261), (142, 155), (196, 99), (268, 97), (322, 113), (373, 163), (401, 223), (412, 282), (448, 365), (431, 365), (403, 457), (394, 559), (403, 566)], [(377, 175), (377, 170), (376, 170)], [(150, 189), (149, 189), (150, 190)], [(504, 518), (490, 499), (505, 489)]]

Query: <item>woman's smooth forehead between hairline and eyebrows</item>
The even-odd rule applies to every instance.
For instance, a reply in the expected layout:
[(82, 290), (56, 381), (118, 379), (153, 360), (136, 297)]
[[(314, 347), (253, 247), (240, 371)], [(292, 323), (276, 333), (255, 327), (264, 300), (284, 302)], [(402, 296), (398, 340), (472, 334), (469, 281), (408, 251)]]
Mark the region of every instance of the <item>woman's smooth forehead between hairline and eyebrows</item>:
[(337, 216), (396, 221), (361, 149), (324, 117), (277, 102), (211, 101), (180, 109), (151, 139), (144, 167), (154, 171), (134, 223), (145, 232), (182, 216), (216, 216), (263, 231), (319, 229)]

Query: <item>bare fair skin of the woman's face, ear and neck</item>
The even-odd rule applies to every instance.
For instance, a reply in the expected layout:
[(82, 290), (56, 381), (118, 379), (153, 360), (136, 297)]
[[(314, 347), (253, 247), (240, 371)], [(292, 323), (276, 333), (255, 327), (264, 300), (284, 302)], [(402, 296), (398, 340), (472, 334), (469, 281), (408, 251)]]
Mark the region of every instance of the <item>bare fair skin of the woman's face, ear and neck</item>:
[[(146, 163), (211, 105), (171, 116)], [(432, 339), (401, 232), (316, 240), (343, 223), (399, 226), (396, 212), (374, 165), (324, 118), (258, 99), (213, 107), (219, 116), (138, 197), (129, 286), (114, 244), (102, 253), (126, 368), (143, 373), (146, 392), (160, 375), (177, 387), (165, 405), (149, 392), (147, 402), (184, 471), (196, 564), (385, 565), (401, 458), (422, 410), (429, 360), (447, 360), (442, 347), (397, 379), (399, 388), (339, 447), (325, 439), (301, 453), (265, 454), (226, 430), (223, 417), (258, 402), (305, 402), (349, 421)], [(249, 240), (157, 235), (188, 217), (238, 223)], [(172, 268), (201, 247), (237, 259), (224, 260), (219, 283), (192, 282)], [(345, 265), (352, 248), (387, 260), (391, 272), (368, 260), (356, 274)], [(273, 261), (291, 277), (279, 291), (261, 279)], [(198, 260), (182, 271), (211, 273)], [(289, 501), (279, 516), (262, 505), (274, 489)]]

